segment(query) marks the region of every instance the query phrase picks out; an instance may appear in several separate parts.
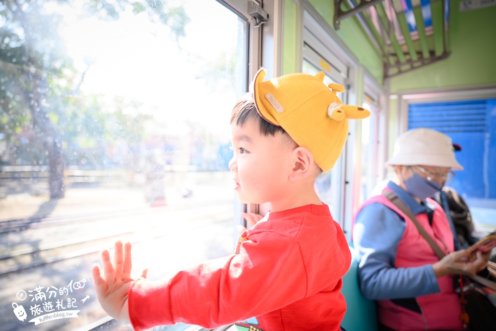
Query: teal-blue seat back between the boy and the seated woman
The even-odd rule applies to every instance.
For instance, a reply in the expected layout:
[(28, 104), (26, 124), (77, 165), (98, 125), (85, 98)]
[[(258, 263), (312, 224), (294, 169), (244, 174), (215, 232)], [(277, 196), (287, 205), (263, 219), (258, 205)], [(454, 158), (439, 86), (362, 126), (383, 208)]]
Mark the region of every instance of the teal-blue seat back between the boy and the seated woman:
[(358, 262), (355, 250), (350, 247), (351, 266), (343, 277), (343, 293), (346, 299), (346, 314), (341, 325), (347, 331), (377, 331), (375, 302), (367, 300), (358, 285)]

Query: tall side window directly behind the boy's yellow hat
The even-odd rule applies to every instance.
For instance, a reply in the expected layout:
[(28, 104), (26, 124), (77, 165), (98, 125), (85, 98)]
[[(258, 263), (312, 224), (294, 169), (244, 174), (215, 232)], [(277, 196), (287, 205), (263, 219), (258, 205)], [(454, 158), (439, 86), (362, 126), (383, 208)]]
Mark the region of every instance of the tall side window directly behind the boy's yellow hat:
[[(338, 96), (344, 104), (356, 104), (357, 60), (347, 47), (339, 41), (335, 31), (322, 21), (311, 8), (304, 10), (303, 30), (303, 72), (315, 74), (323, 71), (329, 82), (345, 86), (345, 92)], [(317, 188), (322, 201), (329, 204), (334, 219), (341, 225), (345, 235), (351, 239), (351, 210), (356, 172), (353, 155), (356, 150), (356, 123), (350, 122), (350, 134), (341, 157), (327, 174), (317, 179)]]

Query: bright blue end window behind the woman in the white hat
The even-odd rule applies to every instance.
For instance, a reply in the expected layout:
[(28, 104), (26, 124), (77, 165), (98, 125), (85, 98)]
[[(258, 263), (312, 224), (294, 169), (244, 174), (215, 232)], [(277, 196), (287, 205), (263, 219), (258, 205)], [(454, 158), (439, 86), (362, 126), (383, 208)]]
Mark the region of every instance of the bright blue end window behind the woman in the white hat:
[(410, 103), (408, 129), (431, 128), (448, 135), (461, 148), (455, 152), (464, 167), (446, 183), (466, 200), (482, 230), (496, 228), (496, 99)]

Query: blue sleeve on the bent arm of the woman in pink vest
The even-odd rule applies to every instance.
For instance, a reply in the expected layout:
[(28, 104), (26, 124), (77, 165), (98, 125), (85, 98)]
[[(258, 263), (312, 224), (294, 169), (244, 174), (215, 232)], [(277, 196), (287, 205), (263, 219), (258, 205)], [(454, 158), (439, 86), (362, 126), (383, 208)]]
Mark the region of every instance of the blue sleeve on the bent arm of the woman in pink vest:
[(369, 300), (414, 298), (440, 291), (432, 265), (396, 268), (405, 221), (381, 203), (362, 208), (355, 218), (353, 242), (360, 289)]

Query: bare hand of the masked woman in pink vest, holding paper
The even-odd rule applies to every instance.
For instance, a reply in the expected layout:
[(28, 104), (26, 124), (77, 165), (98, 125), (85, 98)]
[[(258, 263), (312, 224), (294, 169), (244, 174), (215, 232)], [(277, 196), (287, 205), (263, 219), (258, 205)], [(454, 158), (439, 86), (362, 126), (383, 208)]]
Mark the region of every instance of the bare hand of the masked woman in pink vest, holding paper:
[(488, 253), (477, 251), (474, 254), (468, 250), (459, 250), (447, 254), (434, 263), (433, 269), (437, 278), (456, 273), (475, 276), (477, 272), (486, 267), (488, 260)]

